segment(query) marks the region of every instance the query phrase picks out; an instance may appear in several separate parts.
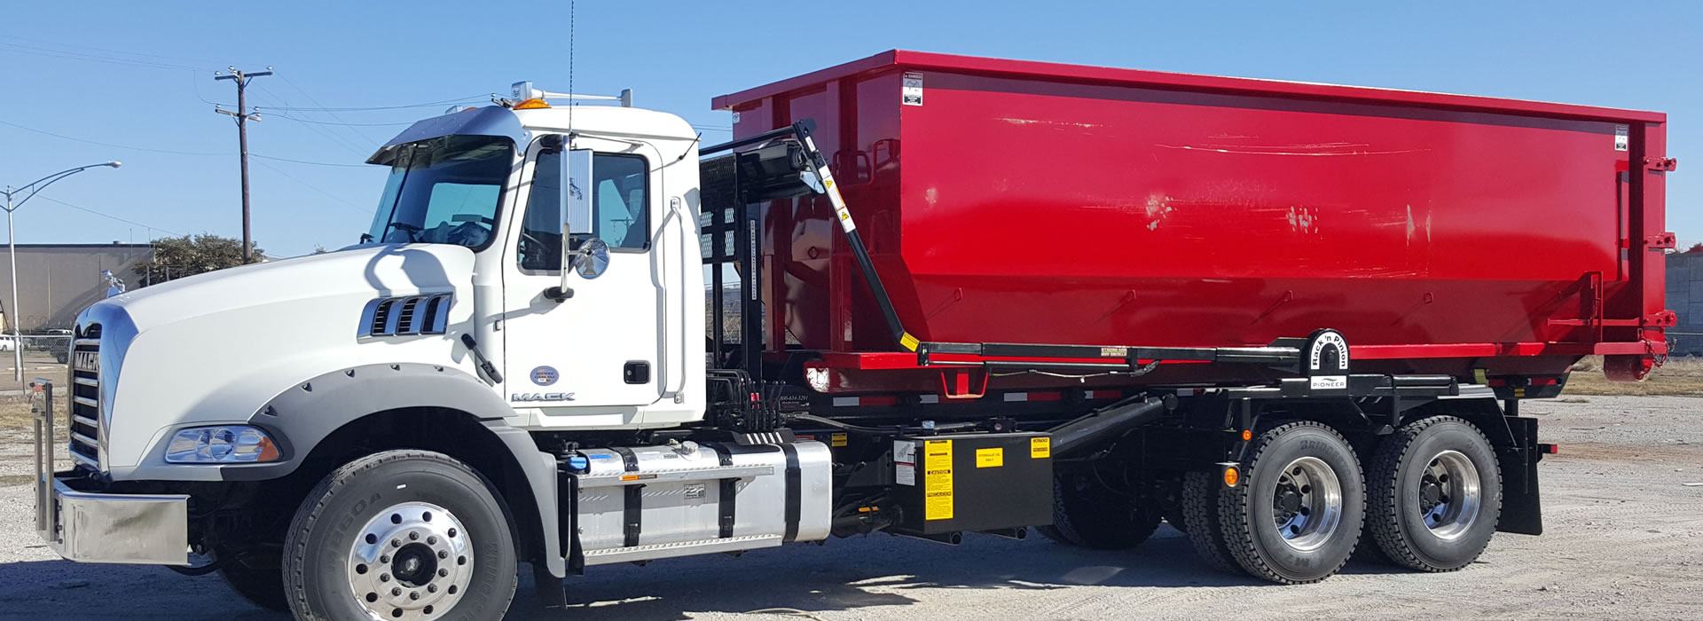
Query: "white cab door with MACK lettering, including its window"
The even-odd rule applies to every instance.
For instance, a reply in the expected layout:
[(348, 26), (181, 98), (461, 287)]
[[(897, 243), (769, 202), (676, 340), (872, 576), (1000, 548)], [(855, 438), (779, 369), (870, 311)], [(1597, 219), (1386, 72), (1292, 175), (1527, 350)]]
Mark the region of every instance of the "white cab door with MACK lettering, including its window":
[[(589, 146), (588, 146), (589, 145)], [(608, 148), (606, 151), (603, 148)], [(654, 403), (662, 289), (652, 265), (651, 230), (659, 189), (654, 148), (579, 138), (593, 148), (593, 236), (608, 243), (608, 267), (569, 276), (572, 298), (545, 289), (562, 284), (559, 148), (535, 143), (521, 170), (518, 226), (504, 271), (502, 350), (506, 396), (516, 408), (542, 408), (542, 425), (615, 425), (639, 420)], [(555, 419), (572, 415), (572, 420)], [(552, 420), (555, 419), (555, 420)]]

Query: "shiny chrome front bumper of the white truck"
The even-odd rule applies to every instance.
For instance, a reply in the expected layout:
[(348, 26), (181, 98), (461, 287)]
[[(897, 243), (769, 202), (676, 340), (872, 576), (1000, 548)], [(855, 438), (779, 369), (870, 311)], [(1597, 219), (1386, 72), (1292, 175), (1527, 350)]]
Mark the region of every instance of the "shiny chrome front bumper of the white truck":
[(48, 390), (36, 415), (36, 534), (80, 563), (189, 565), (189, 495), (80, 492), (53, 471)]

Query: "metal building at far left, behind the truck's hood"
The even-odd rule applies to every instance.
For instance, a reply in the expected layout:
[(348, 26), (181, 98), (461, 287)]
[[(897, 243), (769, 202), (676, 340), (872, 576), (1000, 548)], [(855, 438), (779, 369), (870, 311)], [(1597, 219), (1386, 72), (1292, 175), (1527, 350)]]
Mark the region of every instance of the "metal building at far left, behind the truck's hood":
[(150, 252), (146, 243), (19, 243), (14, 313), (12, 257), (0, 247), (0, 310), (7, 322), (17, 318), (24, 332), (70, 328), (77, 313), (106, 298), (100, 271), (136, 282), (131, 269), (146, 262)]

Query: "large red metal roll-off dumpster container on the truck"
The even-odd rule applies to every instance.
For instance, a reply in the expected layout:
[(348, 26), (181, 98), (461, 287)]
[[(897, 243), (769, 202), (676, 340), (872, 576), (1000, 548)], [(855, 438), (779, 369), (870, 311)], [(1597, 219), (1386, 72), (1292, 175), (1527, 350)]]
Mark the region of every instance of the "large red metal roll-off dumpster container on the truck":
[[(921, 105), (901, 104), (906, 73)], [(741, 112), (736, 136), (817, 121), (923, 340), (1214, 347), (1332, 327), (1379, 369), (1424, 373), (1557, 373), (1660, 340), (1589, 322), (1662, 310), (1643, 250), (1664, 226), (1662, 174), (1643, 170), (1666, 153), (1659, 112), (906, 51), (714, 105)], [(891, 350), (831, 209), (768, 209), (770, 342)]]

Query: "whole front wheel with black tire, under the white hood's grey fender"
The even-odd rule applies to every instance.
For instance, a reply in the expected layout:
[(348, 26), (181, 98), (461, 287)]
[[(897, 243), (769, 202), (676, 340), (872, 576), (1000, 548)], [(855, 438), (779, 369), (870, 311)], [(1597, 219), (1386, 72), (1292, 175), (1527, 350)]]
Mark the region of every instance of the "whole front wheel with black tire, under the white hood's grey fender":
[(385, 451), (325, 476), (284, 539), (298, 619), (496, 619), (514, 599), (514, 529), (467, 464)]

